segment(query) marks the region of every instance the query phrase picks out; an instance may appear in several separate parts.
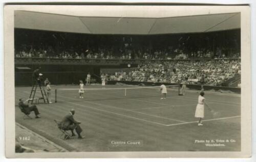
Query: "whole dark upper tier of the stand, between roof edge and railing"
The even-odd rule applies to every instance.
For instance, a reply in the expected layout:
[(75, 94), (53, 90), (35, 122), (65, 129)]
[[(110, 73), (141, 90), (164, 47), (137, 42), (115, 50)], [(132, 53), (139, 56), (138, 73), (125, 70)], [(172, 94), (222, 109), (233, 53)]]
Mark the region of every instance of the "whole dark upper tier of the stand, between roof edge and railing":
[(87, 35), (15, 29), (15, 57), (185, 60), (240, 57), (240, 31), (179, 35)]

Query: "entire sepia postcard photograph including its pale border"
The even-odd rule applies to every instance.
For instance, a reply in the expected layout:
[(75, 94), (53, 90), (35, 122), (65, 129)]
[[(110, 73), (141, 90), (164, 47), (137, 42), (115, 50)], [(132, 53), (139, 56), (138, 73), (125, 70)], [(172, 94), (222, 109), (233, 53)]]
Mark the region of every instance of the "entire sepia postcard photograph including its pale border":
[(249, 157), (249, 10), (7, 5), (7, 156)]

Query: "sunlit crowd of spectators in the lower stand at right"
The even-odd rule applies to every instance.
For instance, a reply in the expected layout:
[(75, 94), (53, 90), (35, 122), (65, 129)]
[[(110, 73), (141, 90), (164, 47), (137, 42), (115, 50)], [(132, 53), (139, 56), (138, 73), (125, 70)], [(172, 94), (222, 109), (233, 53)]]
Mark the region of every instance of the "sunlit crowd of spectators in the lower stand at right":
[(138, 65), (130, 72), (109, 74), (109, 80), (137, 82), (182, 83), (221, 86), (223, 82), (241, 74), (239, 60), (154, 62)]

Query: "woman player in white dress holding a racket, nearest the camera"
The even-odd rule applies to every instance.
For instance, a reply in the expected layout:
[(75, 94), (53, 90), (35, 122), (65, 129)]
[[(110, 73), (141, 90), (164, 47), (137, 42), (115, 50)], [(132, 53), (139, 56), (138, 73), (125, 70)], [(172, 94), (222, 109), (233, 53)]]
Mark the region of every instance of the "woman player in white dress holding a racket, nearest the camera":
[(195, 113), (195, 117), (199, 118), (198, 120), (198, 126), (202, 126), (202, 118), (204, 118), (204, 104), (209, 107), (206, 103), (205, 103), (205, 98), (204, 98), (204, 92), (201, 91), (200, 95), (198, 96), (198, 104), (197, 104), (197, 108), (196, 108), (196, 113)]

